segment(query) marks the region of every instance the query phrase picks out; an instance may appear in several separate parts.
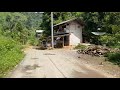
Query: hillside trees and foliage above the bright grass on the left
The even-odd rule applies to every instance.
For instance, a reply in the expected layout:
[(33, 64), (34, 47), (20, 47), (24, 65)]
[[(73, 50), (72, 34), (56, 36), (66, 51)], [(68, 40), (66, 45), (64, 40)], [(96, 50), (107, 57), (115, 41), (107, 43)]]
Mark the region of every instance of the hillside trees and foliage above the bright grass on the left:
[(40, 29), (42, 14), (34, 12), (1, 12), (0, 33), (26, 44), (35, 30)]

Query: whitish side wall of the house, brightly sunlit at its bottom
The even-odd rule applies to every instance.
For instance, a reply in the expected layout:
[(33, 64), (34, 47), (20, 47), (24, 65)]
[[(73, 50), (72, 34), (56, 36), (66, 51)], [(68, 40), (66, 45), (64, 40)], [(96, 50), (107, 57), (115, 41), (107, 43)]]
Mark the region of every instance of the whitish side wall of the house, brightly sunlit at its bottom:
[(82, 27), (76, 22), (71, 22), (69, 24), (69, 30), (70, 45), (78, 45), (78, 43), (82, 43)]

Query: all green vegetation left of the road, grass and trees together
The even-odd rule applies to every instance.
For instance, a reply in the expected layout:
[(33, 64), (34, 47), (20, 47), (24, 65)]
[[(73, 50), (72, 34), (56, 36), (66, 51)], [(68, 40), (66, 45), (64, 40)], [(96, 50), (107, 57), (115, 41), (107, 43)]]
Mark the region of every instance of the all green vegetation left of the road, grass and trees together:
[(35, 30), (40, 29), (41, 17), (34, 12), (0, 12), (0, 77), (20, 63), (26, 46), (38, 44)]

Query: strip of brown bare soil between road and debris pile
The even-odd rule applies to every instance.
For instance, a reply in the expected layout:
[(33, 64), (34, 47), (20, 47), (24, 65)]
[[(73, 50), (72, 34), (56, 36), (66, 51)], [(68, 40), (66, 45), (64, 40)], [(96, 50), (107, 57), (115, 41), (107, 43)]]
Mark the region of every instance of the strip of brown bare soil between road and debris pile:
[(103, 73), (108, 73), (113, 77), (120, 78), (120, 67), (109, 61), (106, 61), (105, 57), (92, 57), (90, 55), (80, 54), (80, 58), (93, 68), (100, 70)]

